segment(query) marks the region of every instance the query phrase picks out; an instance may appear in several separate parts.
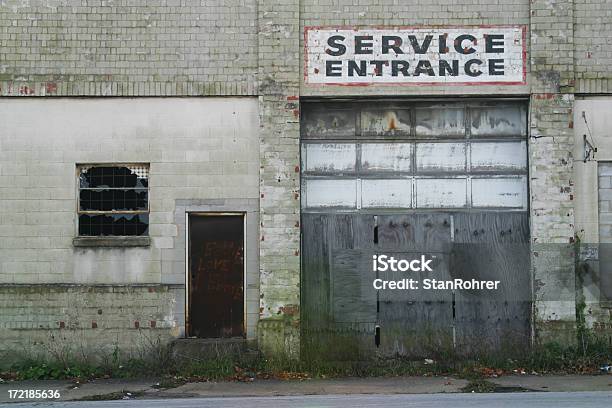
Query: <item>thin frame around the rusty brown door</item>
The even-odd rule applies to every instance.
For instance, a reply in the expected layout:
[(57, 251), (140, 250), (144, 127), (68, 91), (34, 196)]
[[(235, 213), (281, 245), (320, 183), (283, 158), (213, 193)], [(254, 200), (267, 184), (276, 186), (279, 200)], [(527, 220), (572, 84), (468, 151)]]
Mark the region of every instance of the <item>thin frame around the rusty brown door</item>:
[(185, 338), (190, 338), (191, 325), (189, 324), (189, 289), (191, 270), (191, 258), (189, 250), (191, 241), (189, 239), (189, 217), (242, 217), (242, 337), (247, 338), (247, 213), (246, 211), (185, 211)]

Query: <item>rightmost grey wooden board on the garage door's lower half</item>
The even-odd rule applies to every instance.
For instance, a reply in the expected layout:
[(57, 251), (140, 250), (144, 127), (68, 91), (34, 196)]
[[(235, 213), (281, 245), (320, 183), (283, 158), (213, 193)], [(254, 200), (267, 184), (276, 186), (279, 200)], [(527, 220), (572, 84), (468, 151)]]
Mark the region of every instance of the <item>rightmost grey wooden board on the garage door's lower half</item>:
[(509, 351), (529, 344), (531, 281), (526, 213), (454, 216), (453, 278), (499, 280), (496, 291), (457, 291), (457, 351)]

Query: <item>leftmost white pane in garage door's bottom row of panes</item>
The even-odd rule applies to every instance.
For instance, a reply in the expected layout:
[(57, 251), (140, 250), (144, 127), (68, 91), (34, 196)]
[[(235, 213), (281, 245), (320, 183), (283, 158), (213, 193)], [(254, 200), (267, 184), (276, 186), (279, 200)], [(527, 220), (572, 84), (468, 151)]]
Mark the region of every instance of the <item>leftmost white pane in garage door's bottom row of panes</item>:
[(305, 207), (357, 207), (357, 180), (304, 180)]

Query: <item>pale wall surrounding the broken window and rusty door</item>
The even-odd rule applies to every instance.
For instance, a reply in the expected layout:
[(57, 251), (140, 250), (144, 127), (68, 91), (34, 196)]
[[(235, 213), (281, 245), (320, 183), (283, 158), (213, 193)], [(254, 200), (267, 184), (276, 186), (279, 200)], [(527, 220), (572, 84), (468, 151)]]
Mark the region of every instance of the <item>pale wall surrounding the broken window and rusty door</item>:
[[(19, 330), (65, 322), (110, 343), (137, 320), (182, 336), (185, 211), (205, 208), (247, 213), (247, 334), (255, 336), (257, 99), (4, 98), (0, 123), (1, 340), (27, 341), (31, 332)], [(150, 163), (150, 245), (74, 247), (77, 164), (134, 162)], [(126, 289), (134, 285), (143, 289)]]

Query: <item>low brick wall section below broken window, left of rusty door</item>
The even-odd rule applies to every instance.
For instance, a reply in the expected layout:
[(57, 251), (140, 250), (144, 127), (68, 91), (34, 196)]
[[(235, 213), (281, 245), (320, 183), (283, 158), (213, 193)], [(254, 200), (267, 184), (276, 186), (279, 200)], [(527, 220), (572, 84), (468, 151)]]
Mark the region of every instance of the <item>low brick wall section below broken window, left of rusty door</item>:
[(0, 285), (0, 367), (38, 355), (154, 353), (178, 335), (172, 285)]

